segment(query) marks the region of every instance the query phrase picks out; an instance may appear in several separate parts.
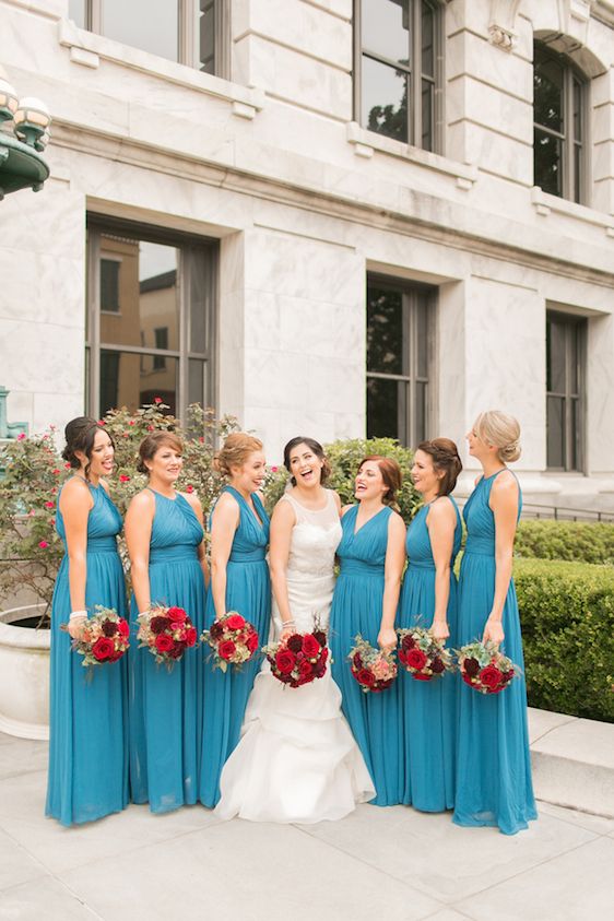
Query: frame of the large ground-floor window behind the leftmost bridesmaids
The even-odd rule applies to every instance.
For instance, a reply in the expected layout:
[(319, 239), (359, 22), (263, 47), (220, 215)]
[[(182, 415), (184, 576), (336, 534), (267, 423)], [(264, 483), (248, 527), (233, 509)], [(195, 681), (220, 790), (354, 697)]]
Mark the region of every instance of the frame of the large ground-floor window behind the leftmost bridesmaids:
[[(105, 234), (125, 235), (135, 240), (173, 246), (179, 250), (177, 265), (177, 291), (179, 298), (179, 347), (155, 349), (154, 346), (126, 345), (121, 343), (101, 341), (101, 239)], [(189, 365), (190, 361), (202, 362), (204, 365), (203, 394), (199, 402), (203, 405), (217, 405), (217, 312), (220, 309), (220, 250), (219, 241), (211, 237), (194, 236), (164, 227), (152, 226), (140, 222), (113, 219), (105, 215), (87, 214), (87, 272), (86, 272), (86, 303), (85, 303), (85, 411), (95, 418), (101, 415), (101, 352), (116, 354), (131, 354), (141, 356), (143, 361), (157, 355), (163, 358), (177, 359), (177, 394), (176, 412), (179, 417), (185, 416), (189, 399)], [(206, 312), (205, 352), (189, 349), (190, 343), (190, 260), (198, 258), (198, 250), (209, 248), (213, 250), (212, 258), (212, 309)], [(117, 316), (117, 315), (116, 315)], [(205, 397), (210, 394), (211, 399)]]

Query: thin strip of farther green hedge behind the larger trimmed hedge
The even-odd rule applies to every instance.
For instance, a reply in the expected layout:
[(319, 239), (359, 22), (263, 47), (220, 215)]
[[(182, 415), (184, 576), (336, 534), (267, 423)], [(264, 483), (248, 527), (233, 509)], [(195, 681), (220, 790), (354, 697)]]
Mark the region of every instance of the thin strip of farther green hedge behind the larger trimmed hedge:
[(515, 554), (540, 559), (614, 563), (614, 523), (521, 521)]

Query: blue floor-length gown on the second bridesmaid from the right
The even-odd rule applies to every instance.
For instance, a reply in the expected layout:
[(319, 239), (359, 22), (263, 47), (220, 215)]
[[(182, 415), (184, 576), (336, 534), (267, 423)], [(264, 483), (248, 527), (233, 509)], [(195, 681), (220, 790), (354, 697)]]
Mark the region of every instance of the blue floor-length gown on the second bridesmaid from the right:
[[(457, 504), (457, 526), (450, 558), (450, 595), (446, 646), (454, 648), (457, 631), (457, 578), (453, 572), (460, 550), (462, 524)], [(405, 548), (410, 565), (403, 579), (397, 625), (430, 627), (435, 614), (435, 560), (427, 518), (432, 503), (423, 506), (408, 530)], [(429, 682), (416, 681), (400, 666), (398, 693), (401, 706), (400, 737), (404, 744), (405, 782), (402, 802), (423, 812), (442, 812), (454, 805), (454, 760), (458, 675), (447, 673)]]

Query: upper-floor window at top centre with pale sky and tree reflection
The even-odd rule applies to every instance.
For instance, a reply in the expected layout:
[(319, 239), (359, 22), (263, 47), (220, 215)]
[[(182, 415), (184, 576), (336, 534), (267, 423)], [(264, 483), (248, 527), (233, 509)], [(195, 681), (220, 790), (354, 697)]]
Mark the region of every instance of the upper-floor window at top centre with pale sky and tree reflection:
[(435, 151), (439, 4), (355, 0), (355, 117), (364, 128)]

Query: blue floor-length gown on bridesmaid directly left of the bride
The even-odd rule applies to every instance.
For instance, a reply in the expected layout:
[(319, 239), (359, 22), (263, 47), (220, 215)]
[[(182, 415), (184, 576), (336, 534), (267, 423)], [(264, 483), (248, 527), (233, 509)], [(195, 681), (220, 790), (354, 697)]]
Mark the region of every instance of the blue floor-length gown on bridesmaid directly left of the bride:
[[(260, 645), (269, 639), (271, 619), (271, 581), (265, 560), (269, 543), (269, 516), (259, 496), (252, 495), (258, 518), (233, 486), (226, 486), (239, 506), (239, 523), (226, 565), (226, 611), (236, 611), (258, 630)], [(215, 515), (215, 511), (213, 511)], [(213, 593), (206, 601), (206, 626), (215, 619)], [(256, 654), (238, 671), (227, 672), (205, 664), (204, 718), (200, 771), (200, 800), (212, 808), (220, 800), (220, 776), (235, 749), (243, 725), (247, 699), (262, 659)]]

